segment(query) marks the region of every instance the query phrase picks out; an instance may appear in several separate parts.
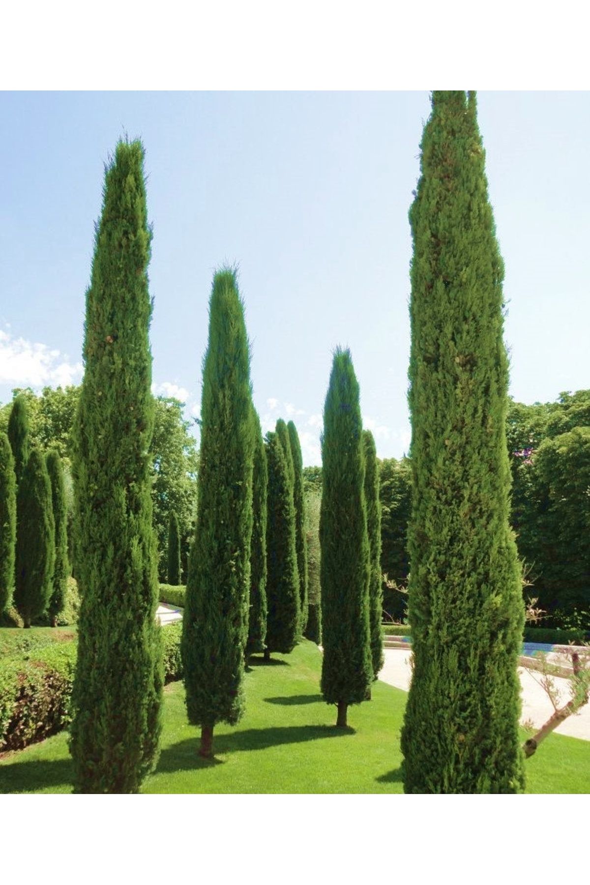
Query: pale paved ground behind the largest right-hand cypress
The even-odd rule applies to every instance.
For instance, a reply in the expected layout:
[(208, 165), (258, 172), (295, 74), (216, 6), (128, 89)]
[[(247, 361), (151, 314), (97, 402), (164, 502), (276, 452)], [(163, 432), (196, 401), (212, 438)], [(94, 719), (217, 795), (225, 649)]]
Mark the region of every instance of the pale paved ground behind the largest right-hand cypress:
[[(383, 653), (385, 664), (379, 673), (379, 679), (387, 682), (388, 685), (395, 685), (397, 689), (407, 691), (410, 688), (411, 679), (411, 652), (405, 649), (384, 649)], [(539, 728), (544, 722), (547, 722), (549, 716), (554, 712), (548, 696), (539, 685), (540, 673), (532, 673), (525, 667), (519, 667), (518, 675), (520, 676), (523, 697), (521, 721), (533, 720), (534, 727)], [(563, 704), (566, 704), (570, 699), (567, 680), (556, 677), (555, 681), (561, 691)], [(584, 741), (590, 741), (590, 704), (583, 706), (578, 715), (570, 716), (556, 727), (556, 734), (580, 737)]]

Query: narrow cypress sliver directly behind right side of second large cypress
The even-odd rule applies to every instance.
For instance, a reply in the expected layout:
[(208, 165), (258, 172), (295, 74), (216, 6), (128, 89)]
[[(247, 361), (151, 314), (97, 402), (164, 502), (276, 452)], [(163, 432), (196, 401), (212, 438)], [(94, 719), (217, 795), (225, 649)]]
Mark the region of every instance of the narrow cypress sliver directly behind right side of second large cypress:
[(252, 479), (252, 543), (250, 548), (250, 599), (246, 660), (255, 651), (264, 651), (266, 638), (266, 490), (268, 471), (260, 419), (252, 410), (254, 425), (254, 473)]

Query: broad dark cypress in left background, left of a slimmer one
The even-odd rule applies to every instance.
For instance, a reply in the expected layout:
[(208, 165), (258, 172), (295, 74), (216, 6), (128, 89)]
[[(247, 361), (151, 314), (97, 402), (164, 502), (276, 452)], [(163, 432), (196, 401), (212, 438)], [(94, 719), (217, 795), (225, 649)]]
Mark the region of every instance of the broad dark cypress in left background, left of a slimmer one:
[(14, 602), (25, 627), (30, 627), (50, 601), (56, 557), (50, 478), (38, 449), (31, 452), (20, 475), (17, 521)]

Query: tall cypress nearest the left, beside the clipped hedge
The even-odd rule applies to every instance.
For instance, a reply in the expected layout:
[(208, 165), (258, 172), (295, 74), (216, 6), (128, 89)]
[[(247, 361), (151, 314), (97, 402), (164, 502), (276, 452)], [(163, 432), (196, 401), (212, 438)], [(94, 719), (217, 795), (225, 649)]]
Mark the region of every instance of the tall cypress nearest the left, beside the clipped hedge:
[(154, 766), (163, 670), (149, 443), (154, 421), (143, 147), (106, 166), (74, 427), (81, 589), (70, 749), (76, 789), (135, 793)]

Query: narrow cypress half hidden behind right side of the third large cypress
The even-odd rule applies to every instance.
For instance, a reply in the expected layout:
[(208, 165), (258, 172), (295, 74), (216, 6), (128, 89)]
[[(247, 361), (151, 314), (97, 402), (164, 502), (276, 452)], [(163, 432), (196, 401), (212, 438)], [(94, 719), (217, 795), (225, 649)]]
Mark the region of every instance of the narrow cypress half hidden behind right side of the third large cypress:
[(379, 464), (375, 440), (370, 430), (363, 431), (364, 501), (369, 535), (369, 624), (373, 677), (383, 666), (383, 582), (381, 581), (381, 505), (379, 504)]

